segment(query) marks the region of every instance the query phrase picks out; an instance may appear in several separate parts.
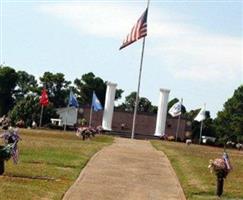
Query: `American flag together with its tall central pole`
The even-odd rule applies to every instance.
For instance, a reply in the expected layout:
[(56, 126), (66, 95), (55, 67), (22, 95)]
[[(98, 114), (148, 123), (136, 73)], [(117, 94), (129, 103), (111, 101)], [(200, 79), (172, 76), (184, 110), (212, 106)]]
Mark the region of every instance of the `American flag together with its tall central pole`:
[(142, 68), (143, 68), (143, 55), (144, 55), (145, 38), (146, 38), (145, 36), (147, 36), (147, 18), (148, 18), (149, 2), (150, 2), (150, 0), (148, 0), (146, 10), (142, 14), (142, 16), (138, 19), (137, 23), (133, 26), (131, 32), (127, 35), (127, 37), (125, 38), (125, 40), (122, 43), (122, 46), (120, 47), (120, 50), (121, 50), (124, 47), (132, 44), (133, 42), (135, 42), (137, 40), (139, 40), (140, 38), (143, 38), (143, 46), (142, 46), (140, 68), (139, 68), (139, 75), (138, 75), (138, 88), (137, 88), (137, 93), (136, 93), (135, 108), (134, 108), (134, 114), (133, 114), (131, 139), (134, 138), (134, 133), (135, 133), (135, 124), (136, 124), (136, 115), (137, 115), (138, 101), (139, 101), (140, 82), (141, 82), (141, 75), (142, 75)]

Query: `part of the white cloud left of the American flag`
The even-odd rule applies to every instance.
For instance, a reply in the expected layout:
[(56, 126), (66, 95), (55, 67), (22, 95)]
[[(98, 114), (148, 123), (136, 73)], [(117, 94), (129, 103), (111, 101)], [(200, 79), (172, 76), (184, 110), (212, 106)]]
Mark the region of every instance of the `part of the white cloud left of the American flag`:
[(122, 37), (137, 20), (133, 7), (118, 4), (97, 2), (45, 4), (41, 5), (40, 9), (62, 19), (78, 30), (80, 34), (99, 37)]

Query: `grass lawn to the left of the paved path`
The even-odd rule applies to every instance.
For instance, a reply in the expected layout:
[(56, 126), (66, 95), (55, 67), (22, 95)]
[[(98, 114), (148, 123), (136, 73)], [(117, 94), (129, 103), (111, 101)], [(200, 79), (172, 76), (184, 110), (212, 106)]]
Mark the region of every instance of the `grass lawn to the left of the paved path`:
[(0, 200), (61, 199), (81, 169), (109, 136), (82, 141), (75, 134), (59, 131), (20, 130), (20, 162), (5, 162), (0, 176)]

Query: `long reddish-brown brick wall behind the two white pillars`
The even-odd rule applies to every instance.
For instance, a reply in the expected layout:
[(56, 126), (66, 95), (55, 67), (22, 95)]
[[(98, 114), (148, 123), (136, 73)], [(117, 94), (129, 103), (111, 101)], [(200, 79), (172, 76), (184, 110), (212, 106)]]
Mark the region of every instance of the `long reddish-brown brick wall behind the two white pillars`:
[[(92, 126), (99, 126), (102, 124), (103, 111), (93, 112)], [(79, 119), (86, 119), (89, 122), (90, 108), (83, 108), (79, 114)], [(151, 138), (154, 135), (156, 126), (156, 114), (138, 113), (136, 118), (135, 138), (136, 135), (140, 138)], [(114, 110), (112, 120), (112, 130), (115, 132), (131, 133), (132, 130), (133, 113)], [(177, 118), (167, 116), (165, 134), (168, 136), (175, 136), (177, 129)], [(189, 129), (185, 119), (181, 119), (178, 131), (178, 137), (185, 139), (186, 131)]]

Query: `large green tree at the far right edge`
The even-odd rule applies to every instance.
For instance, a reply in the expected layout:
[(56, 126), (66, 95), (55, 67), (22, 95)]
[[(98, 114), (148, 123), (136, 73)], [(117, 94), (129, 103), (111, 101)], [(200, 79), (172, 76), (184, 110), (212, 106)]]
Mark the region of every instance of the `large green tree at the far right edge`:
[(214, 124), (217, 136), (223, 141), (243, 141), (243, 85), (225, 102)]

